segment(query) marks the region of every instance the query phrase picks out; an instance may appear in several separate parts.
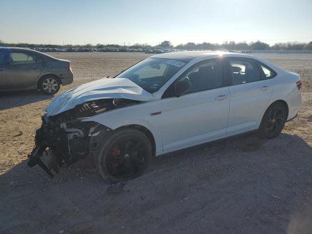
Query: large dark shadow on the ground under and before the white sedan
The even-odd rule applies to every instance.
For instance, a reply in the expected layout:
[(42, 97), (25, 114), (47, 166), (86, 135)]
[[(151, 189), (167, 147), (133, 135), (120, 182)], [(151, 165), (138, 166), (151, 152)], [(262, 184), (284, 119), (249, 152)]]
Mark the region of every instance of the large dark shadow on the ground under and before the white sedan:
[(0, 233), (309, 233), (311, 156), (249, 134), (157, 157), (117, 190), (89, 158), (53, 179), (23, 161), (0, 175)]

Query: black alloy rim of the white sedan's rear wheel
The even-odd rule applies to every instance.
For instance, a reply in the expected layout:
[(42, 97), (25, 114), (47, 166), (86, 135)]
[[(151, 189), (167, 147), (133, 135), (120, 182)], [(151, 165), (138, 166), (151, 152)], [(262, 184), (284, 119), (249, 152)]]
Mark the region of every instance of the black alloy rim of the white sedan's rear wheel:
[(284, 124), (284, 111), (282, 108), (275, 106), (268, 114), (268, 117), (265, 122), (266, 131), (270, 135), (279, 133)]

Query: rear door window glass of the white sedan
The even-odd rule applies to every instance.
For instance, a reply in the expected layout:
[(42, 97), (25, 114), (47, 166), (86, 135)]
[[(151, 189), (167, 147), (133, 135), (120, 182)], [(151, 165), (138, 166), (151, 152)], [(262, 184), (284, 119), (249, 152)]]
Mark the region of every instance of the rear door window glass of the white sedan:
[(232, 84), (244, 84), (260, 80), (260, 72), (251, 59), (230, 59)]

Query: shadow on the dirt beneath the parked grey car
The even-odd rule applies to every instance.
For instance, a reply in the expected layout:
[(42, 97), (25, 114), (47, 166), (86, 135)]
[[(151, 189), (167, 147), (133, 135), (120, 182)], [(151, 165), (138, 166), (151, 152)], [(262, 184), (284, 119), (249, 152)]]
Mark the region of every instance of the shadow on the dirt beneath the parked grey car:
[(45, 95), (39, 90), (0, 92), (0, 110), (52, 99), (53, 95)]

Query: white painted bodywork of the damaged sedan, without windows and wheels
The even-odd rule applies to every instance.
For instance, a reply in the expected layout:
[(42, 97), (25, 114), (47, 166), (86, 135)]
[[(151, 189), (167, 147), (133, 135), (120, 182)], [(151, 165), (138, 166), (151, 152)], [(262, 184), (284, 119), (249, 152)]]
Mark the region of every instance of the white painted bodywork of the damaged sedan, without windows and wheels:
[[(174, 54), (183, 56), (183, 53), (190, 56), (200, 52), (175, 52), (168, 53), (166, 56), (172, 58)], [(300, 79), (297, 74), (286, 72), (266, 60), (249, 55), (223, 52), (201, 53), (202, 56), (192, 59), (153, 95), (127, 79), (101, 79), (59, 95), (46, 111), (48, 115), (56, 115), (77, 104), (99, 98), (141, 100), (143, 102), (139, 104), (104, 112), (83, 121), (96, 121), (113, 130), (126, 125), (141, 125), (153, 134), (156, 156), (256, 130), (268, 106), (276, 100), (287, 103), (289, 109), (287, 119), (296, 116), (301, 102), (301, 94), (296, 86), (296, 81)], [(161, 58), (161, 56), (165, 55), (153, 57)], [(256, 59), (271, 67), (277, 76), (182, 95), (179, 98), (161, 99), (165, 90), (189, 67), (199, 61), (220, 56)], [(265, 86), (267, 88), (263, 89)], [(215, 100), (219, 95), (225, 95), (226, 98)], [(157, 112), (161, 114), (150, 115)]]

